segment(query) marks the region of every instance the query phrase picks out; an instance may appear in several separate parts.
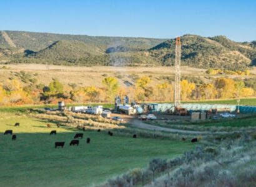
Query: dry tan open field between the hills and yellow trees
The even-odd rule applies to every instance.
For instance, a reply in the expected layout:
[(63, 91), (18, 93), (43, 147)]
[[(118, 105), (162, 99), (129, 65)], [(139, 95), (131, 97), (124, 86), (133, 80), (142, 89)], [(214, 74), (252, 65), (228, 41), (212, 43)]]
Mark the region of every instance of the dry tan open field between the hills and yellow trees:
[[(135, 76), (150, 76), (152, 84), (160, 83), (161, 76), (174, 76), (173, 67), (120, 67), (120, 66), (57, 66), (41, 64), (4, 65), (7, 69), (0, 69), (0, 81), (19, 78), (17, 73), (25, 71), (38, 80), (38, 83), (49, 84), (53, 79), (58, 79), (63, 84), (76, 83), (77, 86), (102, 86), (106, 76), (114, 76), (121, 86), (134, 84)], [(1, 65), (0, 65), (1, 67)], [(182, 73), (190, 76), (204, 76), (205, 70), (199, 68), (182, 67)]]

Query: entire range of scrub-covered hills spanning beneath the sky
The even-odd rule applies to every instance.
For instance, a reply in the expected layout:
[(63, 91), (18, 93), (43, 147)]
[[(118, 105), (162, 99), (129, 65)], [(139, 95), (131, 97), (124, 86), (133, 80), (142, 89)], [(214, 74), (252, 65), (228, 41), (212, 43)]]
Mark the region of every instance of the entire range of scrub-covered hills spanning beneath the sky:
[[(37, 32), (0, 32), (0, 63), (56, 65), (170, 66), (175, 39), (91, 37)], [(247, 69), (256, 65), (256, 42), (225, 36), (184, 35), (182, 65), (197, 68)]]

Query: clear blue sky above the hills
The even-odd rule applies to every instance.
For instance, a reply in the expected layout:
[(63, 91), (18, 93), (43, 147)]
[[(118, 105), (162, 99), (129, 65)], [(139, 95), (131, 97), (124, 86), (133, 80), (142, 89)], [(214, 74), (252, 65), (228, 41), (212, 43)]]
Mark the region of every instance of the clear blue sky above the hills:
[(0, 0), (0, 30), (256, 40), (256, 0)]

